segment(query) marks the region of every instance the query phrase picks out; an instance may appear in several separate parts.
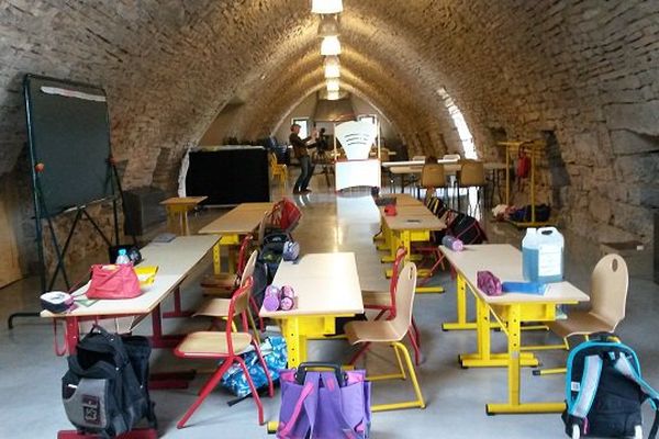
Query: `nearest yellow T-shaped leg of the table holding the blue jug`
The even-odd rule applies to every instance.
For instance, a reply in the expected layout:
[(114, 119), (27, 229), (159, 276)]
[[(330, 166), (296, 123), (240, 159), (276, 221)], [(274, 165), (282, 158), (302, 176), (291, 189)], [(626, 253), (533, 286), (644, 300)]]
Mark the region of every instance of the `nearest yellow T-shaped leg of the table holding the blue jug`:
[(565, 403), (522, 403), (520, 398), (520, 370), (522, 367), (522, 305), (509, 305), (509, 401), (505, 404), (487, 404), (488, 415), (523, 413), (561, 413)]

